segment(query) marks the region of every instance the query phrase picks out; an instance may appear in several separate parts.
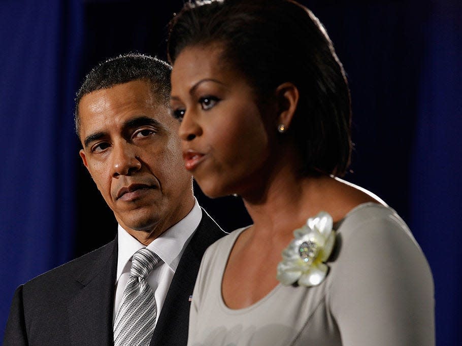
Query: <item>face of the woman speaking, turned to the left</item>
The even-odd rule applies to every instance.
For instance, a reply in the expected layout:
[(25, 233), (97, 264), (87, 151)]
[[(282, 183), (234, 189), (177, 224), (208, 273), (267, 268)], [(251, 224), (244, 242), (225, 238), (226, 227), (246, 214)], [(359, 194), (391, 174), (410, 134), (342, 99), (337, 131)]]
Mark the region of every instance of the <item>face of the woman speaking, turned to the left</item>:
[(251, 86), (220, 62), (220, 53), (216, 45), (186, 47), (172, 70), (185, 167), (210, 197), (244, 195), (259, 185), (271, 153), (264, 120), (271, 115), (260, 114)]

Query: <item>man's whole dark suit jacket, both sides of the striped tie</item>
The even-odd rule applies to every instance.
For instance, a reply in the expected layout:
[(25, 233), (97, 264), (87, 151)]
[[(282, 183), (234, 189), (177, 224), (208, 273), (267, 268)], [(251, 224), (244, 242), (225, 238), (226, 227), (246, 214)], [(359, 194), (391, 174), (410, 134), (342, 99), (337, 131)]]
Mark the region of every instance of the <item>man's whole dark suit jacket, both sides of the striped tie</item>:
[[(151, 345), (185, 345), (189, 301), (202, 256), (225, 235), (202, 211), (157, 320)], [(117, 238), (16, 290), (4, 345), (112, 345)]]

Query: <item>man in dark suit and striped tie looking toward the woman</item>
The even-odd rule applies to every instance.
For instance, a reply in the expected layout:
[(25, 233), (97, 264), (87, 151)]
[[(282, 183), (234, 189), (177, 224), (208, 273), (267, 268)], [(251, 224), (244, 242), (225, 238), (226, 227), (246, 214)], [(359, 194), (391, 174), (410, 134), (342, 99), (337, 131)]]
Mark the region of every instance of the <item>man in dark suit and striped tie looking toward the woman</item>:
[(135, 344), (186, 344), (200, 261), (224, 232), (193, 196), (169, 96), (170, 66), (152, 57), (120, 56), (87, 75), (76, 98), (80, 156), (114, 212), (117, 237), (21, 285), (4, 344), (113, 344), (114, 323), (123, 330), (122, 310), (134, 304), (125, 302), (129, 285), (144, 280), (130, 273), (143, 248), (156, 258), (143, 264), (154, 267), (143, 281), (152, 302), (143, 317), (154, 329)]

